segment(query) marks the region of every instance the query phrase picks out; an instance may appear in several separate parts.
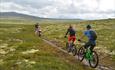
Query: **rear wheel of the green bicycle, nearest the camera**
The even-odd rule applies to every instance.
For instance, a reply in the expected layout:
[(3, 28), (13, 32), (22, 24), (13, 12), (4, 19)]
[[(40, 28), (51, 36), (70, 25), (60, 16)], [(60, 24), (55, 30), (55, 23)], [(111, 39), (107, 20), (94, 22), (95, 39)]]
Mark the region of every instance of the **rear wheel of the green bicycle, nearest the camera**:
[(98, 54), (93, 51), (92, 52), (92, 60), (89, 60), (90, 67), (96, 68), (99, 62)]

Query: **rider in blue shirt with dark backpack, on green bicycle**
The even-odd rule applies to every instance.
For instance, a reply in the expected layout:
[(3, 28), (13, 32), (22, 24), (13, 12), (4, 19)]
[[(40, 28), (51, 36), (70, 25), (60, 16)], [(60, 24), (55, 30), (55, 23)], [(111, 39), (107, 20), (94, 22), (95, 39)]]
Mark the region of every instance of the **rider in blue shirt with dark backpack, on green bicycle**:
[(88, 48), (90, 46), (90, 50), (93, 51), (94, 47), (96, 46), (96, 32), (94, 30), (91, 29), (91, 25), (87, 25), (86, 26), (87, 30), (84, 31), (84, 35), (78, 39), (78, 41), (81, 41), (81, 39), (84, 36), (88, 37), (88, 42), (84, 45), (85, 48)]

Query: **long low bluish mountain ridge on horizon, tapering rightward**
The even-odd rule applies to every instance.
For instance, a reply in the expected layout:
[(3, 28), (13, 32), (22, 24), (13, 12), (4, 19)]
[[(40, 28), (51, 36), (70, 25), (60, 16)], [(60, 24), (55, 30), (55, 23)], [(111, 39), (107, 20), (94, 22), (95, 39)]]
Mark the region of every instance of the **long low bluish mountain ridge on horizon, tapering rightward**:
[(83, 20), (83, 19), (59, 19), (59, 18), (42, 18), (32, 15), (26, 15), (16, 12), (0, 12), (0, 18), (7, 18), (7, 19), (32, 19), (32, 20), (39, 20), (39, 19), (45, 19), (45, 20), (60, 20), (60, 21), (67, 21), (67, 20)]

